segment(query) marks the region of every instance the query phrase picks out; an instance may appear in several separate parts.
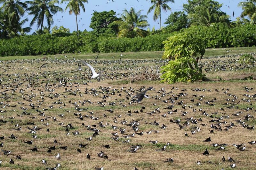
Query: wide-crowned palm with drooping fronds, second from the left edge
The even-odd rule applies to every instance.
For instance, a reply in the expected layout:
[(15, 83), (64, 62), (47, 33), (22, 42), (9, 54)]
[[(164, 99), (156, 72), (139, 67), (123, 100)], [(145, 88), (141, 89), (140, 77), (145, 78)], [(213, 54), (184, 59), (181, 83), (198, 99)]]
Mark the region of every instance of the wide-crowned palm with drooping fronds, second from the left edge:
[(30, 4), (30, 7), (26, 11), (29, 15), (33, 15), (34, 18), (30, 22), (30, 26), (33, 26), (37, 22), (37, 29), (43, 29), (44, 17), (47, 21), (48, 29), (53, 24), (52, 16), (57, 12), (63, 12), (63, 9), (55, 4), (59, 4), (58, 0), (34, 0), (26, 1), (25, 3)]

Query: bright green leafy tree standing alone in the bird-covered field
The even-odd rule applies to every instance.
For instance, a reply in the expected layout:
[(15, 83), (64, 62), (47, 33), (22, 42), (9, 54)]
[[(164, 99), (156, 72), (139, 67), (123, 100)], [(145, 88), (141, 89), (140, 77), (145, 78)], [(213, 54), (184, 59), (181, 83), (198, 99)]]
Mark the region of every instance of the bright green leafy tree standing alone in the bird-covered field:
[(205, 52), (204, 44), (201, 37), (190, 32), (175, 34), (164, 41), (163, 59), (170, 61), (161, 67), (162, 82), (210, 81), (198, 66)]

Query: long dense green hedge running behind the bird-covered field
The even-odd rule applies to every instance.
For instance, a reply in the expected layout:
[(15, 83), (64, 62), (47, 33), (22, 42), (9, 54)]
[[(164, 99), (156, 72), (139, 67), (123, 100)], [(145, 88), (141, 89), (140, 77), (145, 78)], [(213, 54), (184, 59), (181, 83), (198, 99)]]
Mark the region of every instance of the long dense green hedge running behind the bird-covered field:
[[(256, 44), (256, 25), (229, 28), (223, 24), (210, 27), (192, 26), (180, 32), (199, 35), (206, 48), (249, 47)], [(178, 32), (179, 33), (179, 32)], [(26, 35), (10, 40), (0, 40), (0, 56), (47, 55), (86, 52), (161, 51), (163, 41), (176, 34), (148, 35), (145, 38), (97, 37), (92, 32), (58, 37), (51, 34)]]

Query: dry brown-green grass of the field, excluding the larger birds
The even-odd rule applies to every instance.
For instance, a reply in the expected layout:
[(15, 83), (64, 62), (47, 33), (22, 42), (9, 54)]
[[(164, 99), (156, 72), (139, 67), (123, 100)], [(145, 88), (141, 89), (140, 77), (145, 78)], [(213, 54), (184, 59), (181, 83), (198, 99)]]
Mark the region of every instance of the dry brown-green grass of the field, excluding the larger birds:
[[(104, 169), (125, 170), (133, 170), (134, 167), (138, 169), (155, 168), (157, 170), (231, 169), (230, 162), (221, 162), (223, 156), (226, 159), (229, 156), (233, 158), (236, 161), (237, 169), (256, 169), (256, 145), (248, 143), (256, 140), (255, 129), (244, 128), (237, 122), (241, 119), (245, 121), (244, 124), (248, 124), (248, 127), (256, 124), (255, 118), (244, 120), (248, 114), (256, 116), (256, 96), (253, 96), (256, 94), (256, 69), (252, 67), (251, 73), (249, 73), (246, 66), (237, 63), (239, 55), (236, 55), (251, 52), (255, 53), (256, 48), (234, 48), (228, 54), (232, 56), (216, 57), (225, 55), (226, 50), (208, 49), (205, 54), (208, 58), (203, 59), (201, 64), (203, 70), (212, 68), (207, 72), (204, 70), (204, 73), (206, 77), (215, 81), (170, 85), (159, 83), (159, 81), (135, 81), (130, 83), (131, 75), (140, 75), (145, 70), (148, 72), (155, 71), (156, 68), (164, 65), (166, 61), (161, 59), (163, 52), (122, 53), (124, 55), (122, 57), (119, 53), (108, 53), (100, 54), (98, 60), (92, 60), (92, 55), (95, 56), (95, 54), (67, 54), (67, 58), (64, 55), (1, 57), (0, 60), (3, 60), (0, 63), (1, 68), (7, 71), (2, 73), (0, 78), (0, 116), (2, 116), (0, 137), (5, 137), (0, 140), (0, 143), (4, 143), (1, 149), (10, 150), (12, 153), (9, 156), (5, 156), (3, 152), (1, 153), (0, 169), (45, 169), (46, 167), (53, 168), (58, 163), (61, 164), (61, 169), (94, 169), (94, 167), (102, 166)], [(88, 67), (81, 64), (83, 70), (79, 71), (77, 66), (79, 61), (74, 61), (73, 56), (76, 59), (86, 59), (95, 67), (96, 72), (105, 71), (102, 80), (100, 82), (97, 82), (97, 80), (89, 81), (90, 71)], [(55, 57), (57, 57), (57, 60), (55, 60)], [(48, 64), (42, 67), (40, 71), (39, 68), (43, 63)], [(33, 87), (29, 85), (33, 82), (32, 73), (35, 83)], [(68, 86), (59, 85), (56, 78), (60, 77), (65, 78)], [(129, 104), (131, 97), (144, 89), (144, 86), (145, 88), (153, 86), (154, 90), (147, 92), (150, 98), (144, 98), (141, 103), (132, 102)], [(247, 92), (244, 87), (253, 89)], [(201, 91), (193, 91), (196, 88), (201, 89)], [(215, 89), (219, 92), (216, 92)], [(182, 95), (181, 93), (188, 94)], [(244, 94), (248, 94), (250, 97), (246, 97)], [(201, 97), (201, 95), (204, 97)], [(108, 97), (103, 98), (104, 96)], [(174, 97), (178, 97), (174, 103), (168, 100)], [(202, 99), (199, 100), (200, 98)], [(194, 102), (191, 101), (192, 99), (194, 99)], [(229, 101), (227, 101), (228, 99)], [(88, 100), (89, 102), (82, 105), (84, 101)], [(167, 100), (167, 103), (163, 102), (164, 100)], [(214, 100), (212, 103), (215, 106), (205, 103), (210, 100)], [(177, 104), (180, 101), (183, 101), (182, 105)], [(75, 102), (76, 104), (74, 104)], [(105, 106), (101, 107), (97, 102), (103, 102)], [(112, 102), (115, 102), (115, 105), (108, 104)], [(197, 106), (196, 103), (199, 102), (201, 105)], [(225, 103), (229, 104), (225, 105)], [(166, 108), (172, 104), (174, 105), (172, 109)], [(185, 104), (187, 106), (182, 108)], [(31, 106), (34, 106), (34, 108)], [(49, 108), (50, 106), (53, 106), (53, 108)], [(142, 109), (143, 106), (145, 106), (145, 109)], [(235, 107), (228, 109), (227, 106)], [(22, 107), (27, 108), (26, 113), (30, 113), (30, 115), (22, 114), (24, 111), (21, 109)], [(147, 114), (147, 112), (152, 112), (158, 107), (160, 113)], [(253, 107), (253, 109), (245, 110), (248, 107)], [(43, 108), (48, 110), (44, 111)], [(84, 108), (84, 110), (79, 112), (75, 108)], [(202, 111), (199, 110), (200, 108), (202, 108)], [(106, 111), (108, 109), (112, 109), (114, 112)], [(143, 112), (140, 112), (141, 109)], [(177, 112), (168, 114), (168, 111), (176, 109)], [(193, 109), (196, 109), (196, 112), (193, 112)], [(131, 110), (131, 116), (127, 115), (128, 110)], [(136, 110), (139, 113), (134, 113)], [(92, 111), (94, 113), (90, 114), (89, 112)], [(188, 113), (185, 116), (181, 115), (185, 111)], [(203, 111), (208, 113), (209, 116), (203, 115)], [(238, 116), (232, 115), (239, 111), (243, 113)], [(44, 112), (44, 116), (39, 115), (39, 112)], [(216, 112), (217, 114), (214, 114)], [(79, 116), (74, 115), (74, 113), (81, 113), (84, 120), (77, 118)], [(60, 117), (61, 114), (64, 114), (64, 116)], [(104, 117), (104, 114), (107, 117)], [(166, 117), (162, 116), (164, 114), (166, 114)], [(92, 115), (99, 119), (92, 120), (89, 118)], [(121, 115), (121, 117), (117, 117), (118, 115)], [(229, 118), (226, 118), (228, 115)], [(33, 119), (34, 116), (36, 118)], [(222, 131), (214, 130), (210, 134), (211, 124), (218, 122), (209, 121), (213, 118), (216, 120), (221, 116), (223, 116), (223, 120), (220, 120)], [(11, 119), (12, 117), (14, 118)], [(57, 121), (53, 121), (54, 117)], [(116, 123), (113, 121), (114, 117), (116, 117)], [(170, 122), (170, 119), (173, 121), (180, 119), (180, 124), (183, 125), (186, 119), (191, 117), (197, 120), (197, 124), (190, 122), (190, 125), (184, 129), (180, 129), (178, 124)], [(42, 122), (41, 120), (45, 118), (48, 120)], [(199, 118), (202, 121), (199, 121)], [(121, 122), (125, 120), (127, 123), (122, 124)], [(123, 136), (134, 133), (132, 127), (127, 126), (133, 120), (139, 121), (138, 132), (143, 131), (144, 133), (142, 136), (136, 134), (135, 137), (130, 137), (129, 143), (123, 143), (127, 140)], [(4, 123), (3, 121), (8, 122)], [(99, 126), (98, 123), (101, 121), (103, 125), (106, 125), (105, 128)], [(151, 124), (154, 121), (158, 122), (159, 125)], [(227, 123), (223, 123), (224, 121)], [(28, 122), (33, 122), (34, 125), (28, 125)], [(72, 124), (74, 129), (68, 128), (70, 135), (67, 136), (66, 128), (59, 125), (61, 122), (64, 126), (69, 123)], [(235, 126), (225, 131), (226, 126), (229, 126), (231, 122)], [(45, 125), (46, 123), (49, 124)], [(82, 123), (84, 123), (84, 126), (82, 126)], [(18, 128), (15, 126), (16, 124), (21, 127), (20, 131), (15, 130)], [(166, 126), (165, 129), (161, 128), (163, 124)], [(202, 124), (205, 124), (205, 126)], [(92, 141), (88, 141), (87, 138), (91, 137), (94, 131), (87, 129), (87, 125), (90, 125), (90, 127), (96, 125), (96, 128), (100, 130), (99, 135), (92, 137)], [(118, 128), (116, 130), (112, 129), (113, 125)], [(33, 126), (42, 128), (36, 131), (37, 138), (33, 138), (26, 128), (32, 128)], [(191, 130), (195, 127), (199, 127), (200, 131), (192, 135)], [(120, 134), (120, 128), (126, 129), (124, 134)], [(46, 129), (49, 129), (49, 132)], [(159, 133), (154, 132), (157, 130)], [(72, 134), (76, 131), (79, 131), (77, 136)], [(152, 133), (147, 134), (148, 131), (152, 131)], [(111, 138), (111, 133), (115, 132), (118, 132), (120, 137), (118, 141)], [(184, 136), (185, 132), (188, 133), (188, 137)], [(10, 139), (11, 134), (15, 135), (17, 139)], [(211, 137), (212, 141), (203, 142), (208, 137)], [(58, 144), (53, 144), (54, 139), (58, 141)], [(32, 145), (24, 143), (24, 141), (30, 140), (33, 140)], [(158, 143), (152, 144), (149, 140), (157, 140)], [(170, 145), (166, 147), (165, 151), (156, 151), (167, 142)], [(223, 151), (216, 150), (219, 147), (213, 147), (212, 142), (225, 143), (228, 146)], [(85, 148), (79, 148), (81, 143), (88, 143), (88, 145)], [(246, 146), (245, 151), (240, 151), (232, 146), (232, 144), (242, 143)], [(102, 146), (107, 144), (110, 145), (109, 149)], [(51, 153), (46, 152), (54, 145), (56, 150), (52, 150)], [(129, 152), (131, 145), (141, 145), (141, 148), (132, 153)], [(38, 151), (31, 151), (30, 149), (35, 146)], [(67, 146), (68, 149), (60, 149), (60, 146)], [(203, 155), (206, 148), (210, 153), (208, 156)], [(77, 149), (81, 149), (82, 153), (77, 152)], [(100, 151), (108, 155), (108, 159), (98, 157), (97, 153), (100, 153)], [(55, 158), (57, 153), (60, 153), (61, 159)], [(91, 155), (90, 160), (86, 159), (87, 153)], [(16, 155), (20, 155), (22, 159), (17, 160)], [(164, 162), (169, 158), (174, 160), (173, 163)], [(14, 164), (9, 164), (10, 159), (14, 160)], [(42, 164), (42, 159), (47, 161), (47, 165)], [(201, 161), (201, 165), (196, 164), (197, 160)]]

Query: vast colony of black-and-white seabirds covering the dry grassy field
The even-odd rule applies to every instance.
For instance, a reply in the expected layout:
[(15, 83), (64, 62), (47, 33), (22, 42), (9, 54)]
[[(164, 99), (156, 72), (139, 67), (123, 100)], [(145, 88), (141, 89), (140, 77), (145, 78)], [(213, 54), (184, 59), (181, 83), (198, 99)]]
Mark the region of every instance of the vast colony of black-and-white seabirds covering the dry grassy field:
[[(241, 71), (238, 56), (200, 65)], [(167, 61), (54, 58), (0, 63), (1, 168), (255, 168), (254, 81), (126, 84)]]

